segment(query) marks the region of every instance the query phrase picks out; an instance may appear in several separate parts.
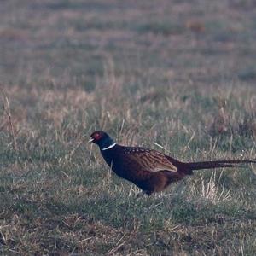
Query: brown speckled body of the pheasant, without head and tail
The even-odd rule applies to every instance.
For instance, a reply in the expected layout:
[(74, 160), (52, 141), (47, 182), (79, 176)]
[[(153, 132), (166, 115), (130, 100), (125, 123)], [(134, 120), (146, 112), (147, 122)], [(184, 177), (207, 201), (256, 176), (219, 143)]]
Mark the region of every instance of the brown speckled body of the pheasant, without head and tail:
[(185, 176), (185, 173), (177, 172), (177, 166), (183, 163), (155, 150), (116, 145), (101, 152), (113, 172), (135, 183), (147, 195), (160, 192)]

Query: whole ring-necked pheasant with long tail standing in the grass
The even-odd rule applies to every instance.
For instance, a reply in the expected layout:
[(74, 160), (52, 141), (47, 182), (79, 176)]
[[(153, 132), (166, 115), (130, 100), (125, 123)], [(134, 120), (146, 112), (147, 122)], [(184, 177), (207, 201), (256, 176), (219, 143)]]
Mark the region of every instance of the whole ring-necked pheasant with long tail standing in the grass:
[(182, 162), (154, 149), (119, 145), (104, 131), (94, 131), (89, 142), (99, 146), (102, 157), (113, 172), (136, 184), (148, 196), (166, 189), (170, 183), (192, 175), (195, 170), (256, 163), (256, 160)]

